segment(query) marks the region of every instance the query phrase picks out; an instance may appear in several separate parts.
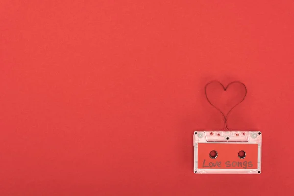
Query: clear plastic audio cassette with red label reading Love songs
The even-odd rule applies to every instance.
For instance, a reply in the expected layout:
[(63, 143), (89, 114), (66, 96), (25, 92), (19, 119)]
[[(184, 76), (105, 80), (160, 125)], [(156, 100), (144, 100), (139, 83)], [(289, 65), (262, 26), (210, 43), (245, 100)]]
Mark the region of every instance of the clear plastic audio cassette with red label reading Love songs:
[(195, 131), (194, 173), (260, 174), (259, 131)]

